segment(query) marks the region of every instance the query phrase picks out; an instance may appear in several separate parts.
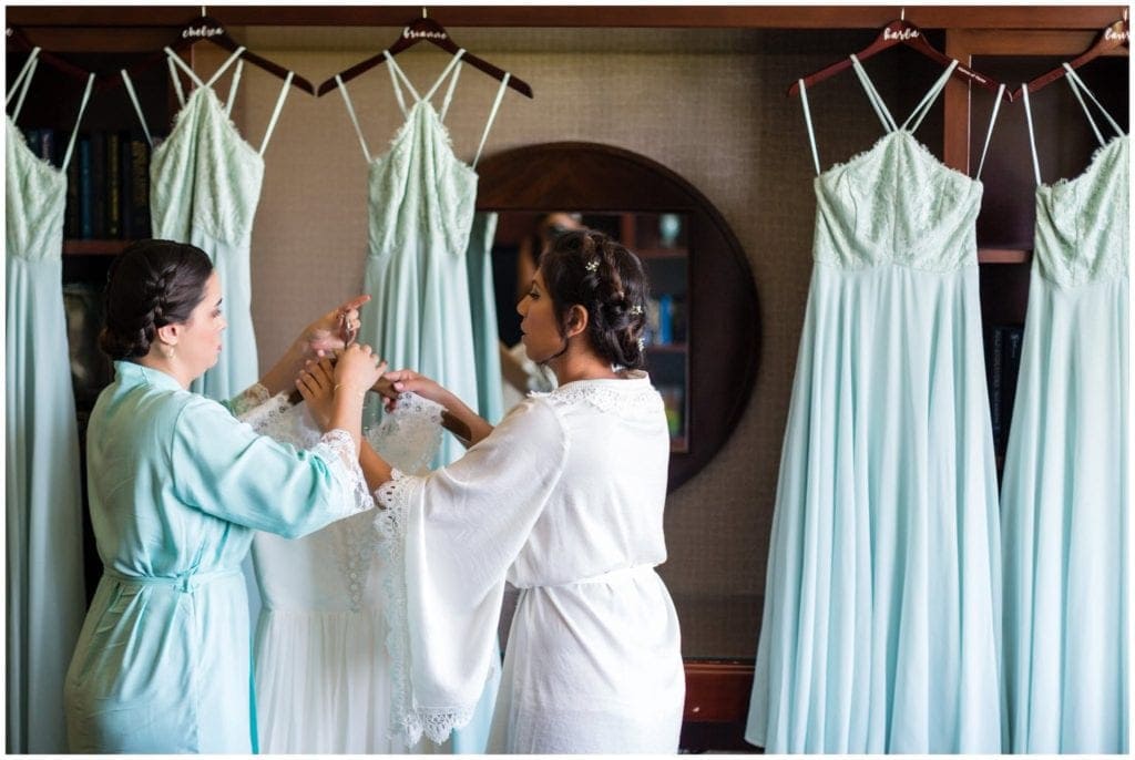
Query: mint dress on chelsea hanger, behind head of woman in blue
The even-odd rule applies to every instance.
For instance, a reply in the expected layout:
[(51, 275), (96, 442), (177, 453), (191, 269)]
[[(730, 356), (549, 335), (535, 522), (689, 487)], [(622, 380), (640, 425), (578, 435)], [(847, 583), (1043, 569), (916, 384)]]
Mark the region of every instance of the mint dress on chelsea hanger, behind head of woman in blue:
[[(260, 147), (253, 147), (229, 119), (244, 61), (238, 48), (204, 82), (169, 48), (170, 76), (182, 110), (174, 128), (150, 160), (150, 213), (153, 236), (191, 243), (204, 251), (220, 276), (228, 329), (221, 333), (216, 366), (193, 381), (191, 389), (217, 400), (236, 396), (260, 377), (257, 339), (252, 328), (250, 255), (252, 221), (264, 177), (264, 150), (284, 108), (292, 83), (285, 78)], [(222, 103), (213, 84), (234, 64), (228, 101)], [(186, 98), (178, 69), (196, 85)], [(153, 146), (149, 126), (126, 71), (123, 78), (143, 132)]]

